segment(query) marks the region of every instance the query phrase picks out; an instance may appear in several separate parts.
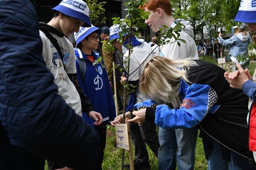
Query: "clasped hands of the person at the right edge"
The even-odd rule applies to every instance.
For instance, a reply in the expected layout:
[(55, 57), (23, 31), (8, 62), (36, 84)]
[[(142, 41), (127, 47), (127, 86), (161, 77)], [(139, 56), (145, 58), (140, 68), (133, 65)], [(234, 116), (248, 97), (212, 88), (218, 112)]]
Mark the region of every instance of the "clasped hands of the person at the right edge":
[(242, 89), (243, 83), (250, 80), (251, 76), (248, 69), (243, 70), (239, 63), (236, 63), (238, 70), (232, 73), (225, 72), (224, 77), (229, 82), (231, 88)]

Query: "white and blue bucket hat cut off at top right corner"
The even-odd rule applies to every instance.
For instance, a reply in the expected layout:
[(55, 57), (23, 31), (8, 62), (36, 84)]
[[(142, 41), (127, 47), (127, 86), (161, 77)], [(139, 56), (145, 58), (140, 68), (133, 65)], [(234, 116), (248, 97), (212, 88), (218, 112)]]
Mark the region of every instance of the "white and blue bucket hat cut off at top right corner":
[(241, 0), (234, 21), (256, 23), (256, 0)]

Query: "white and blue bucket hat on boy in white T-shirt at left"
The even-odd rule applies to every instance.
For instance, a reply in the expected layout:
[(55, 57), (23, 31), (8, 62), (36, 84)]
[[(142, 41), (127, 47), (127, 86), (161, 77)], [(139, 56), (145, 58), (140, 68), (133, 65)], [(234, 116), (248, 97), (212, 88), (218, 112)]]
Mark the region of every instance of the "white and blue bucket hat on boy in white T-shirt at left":
[(84, 25), (82, 25), (84, 27), (91, 26), (89, 7), (83, 0), (62, 0), (59, 5), (52, 9), (84, 21)]

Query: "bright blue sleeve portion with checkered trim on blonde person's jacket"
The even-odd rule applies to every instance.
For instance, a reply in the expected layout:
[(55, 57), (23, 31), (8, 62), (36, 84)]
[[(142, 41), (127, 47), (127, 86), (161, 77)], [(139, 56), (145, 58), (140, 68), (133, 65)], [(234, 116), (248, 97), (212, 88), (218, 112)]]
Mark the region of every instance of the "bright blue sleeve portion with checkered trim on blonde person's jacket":
[[(208, 112), (214, 113), (219, 107), (219, 105), (212, 107), (216, 104), (218, 95), (209, 85), (195, 83), (189, 86), (182, 79), (180, 96), (182, 101), (180, 108), (171, 109), (165, 104), (156, 106), (155, 125), (174, 129), (191, 128), (199, 124)], [(135, 107), (151, 105), (152, 102), (154, 101), (145, 101), (136, 104)]]

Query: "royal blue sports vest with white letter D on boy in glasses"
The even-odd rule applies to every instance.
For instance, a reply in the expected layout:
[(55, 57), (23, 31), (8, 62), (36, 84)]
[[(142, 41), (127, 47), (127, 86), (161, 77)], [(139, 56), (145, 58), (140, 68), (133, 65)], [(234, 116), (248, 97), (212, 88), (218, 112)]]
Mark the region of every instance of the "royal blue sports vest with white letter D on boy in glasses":
[[(83, 52), (78, 52), (78, 49), (75, 48), (74, 53), (77, 58), (82, 58), (86, 62), (86, 74), (82, 80), (80, 66), (76, 60), (77, 77), (79, 85), (86, 96), (90, 99), (94, 111), (101, 113), (103, 121), (114, 120), (116, 116), (115, 104), (108, 81), (107, 70), (102, 67), (104, 65), (103, 60), (101, 60), (102, 64), (98, 63), (93, 66), (93, 63), (85, 54), (83, 54)], [(94, 56), (94, 60), (99, 58), (94, 51), (92, 51), (92, 55)], [(94, 122), (94, 120), (89, 118), (86, 113), (83, 113), (83, 118), (91, 125)]]

